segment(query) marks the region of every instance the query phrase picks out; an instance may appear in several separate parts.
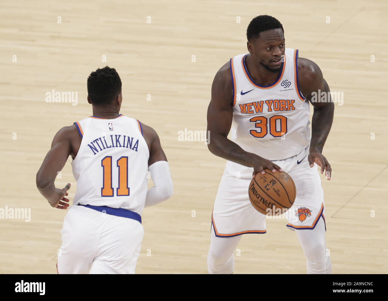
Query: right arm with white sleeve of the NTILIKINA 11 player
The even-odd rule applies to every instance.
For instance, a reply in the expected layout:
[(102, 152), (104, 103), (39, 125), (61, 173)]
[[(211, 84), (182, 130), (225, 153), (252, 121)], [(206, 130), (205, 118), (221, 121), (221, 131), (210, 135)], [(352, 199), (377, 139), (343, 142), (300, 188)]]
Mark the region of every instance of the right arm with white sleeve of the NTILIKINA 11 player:
[(143, 136), (149, 149), (148, 171), (154, 186), (147, 190), (145, 207), (170, 199), (173, 185), (167, 157), (160, 144), (159, 136), (150, 126), (142, 123)]

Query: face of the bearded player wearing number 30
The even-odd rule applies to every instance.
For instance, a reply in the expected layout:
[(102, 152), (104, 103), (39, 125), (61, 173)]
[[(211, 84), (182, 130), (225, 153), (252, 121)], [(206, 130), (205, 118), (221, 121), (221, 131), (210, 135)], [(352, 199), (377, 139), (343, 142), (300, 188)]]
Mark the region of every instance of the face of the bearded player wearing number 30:
[(284, 57), (284, 32), (281, 28), (262, 31), (260, 36), (248, 42), (249, 53), (256, 62), (271, 72), (277, 72)]

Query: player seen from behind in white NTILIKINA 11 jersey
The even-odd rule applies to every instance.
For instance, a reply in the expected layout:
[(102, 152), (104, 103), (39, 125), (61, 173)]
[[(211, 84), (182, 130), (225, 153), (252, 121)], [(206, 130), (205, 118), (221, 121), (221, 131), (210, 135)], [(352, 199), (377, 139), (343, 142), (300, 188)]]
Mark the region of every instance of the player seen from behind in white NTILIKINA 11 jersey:
[[(123, 97), (115, 69), (87, 81), (93, 116), (65, 126), (36, 175), (52, 207), (68, 208), (70, 183), (55, 188), (57, 172), (72, 157), (77, 190), (64, 218), (58, 273), (135, 273), (144, 207), (171, 197), (173, 185), (159, 137), (149, 126), (119, 114)], [(147, 171), (154, 187), (147, 191)]]

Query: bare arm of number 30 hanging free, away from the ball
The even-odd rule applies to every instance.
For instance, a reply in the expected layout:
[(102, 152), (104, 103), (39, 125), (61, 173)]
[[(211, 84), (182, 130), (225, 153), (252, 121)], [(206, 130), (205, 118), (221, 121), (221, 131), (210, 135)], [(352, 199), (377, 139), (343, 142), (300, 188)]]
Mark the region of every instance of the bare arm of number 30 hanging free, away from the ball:
[[(321, 173), (326, 170), (326, 178), (330, 180), (331, 166), (326, 157), (322, 155), (334, 116), (334, 103), (331, 101), (329, 85), (323, 78), (318, 65), (308, 59), (298, 59), (298, 77), (302, 94), (314, 107), (308, 162), (310, 167), (317, 163), (320, 166)], [(326, 93), (326, 102), (316, 101), (317, 95), (322, 92)]]

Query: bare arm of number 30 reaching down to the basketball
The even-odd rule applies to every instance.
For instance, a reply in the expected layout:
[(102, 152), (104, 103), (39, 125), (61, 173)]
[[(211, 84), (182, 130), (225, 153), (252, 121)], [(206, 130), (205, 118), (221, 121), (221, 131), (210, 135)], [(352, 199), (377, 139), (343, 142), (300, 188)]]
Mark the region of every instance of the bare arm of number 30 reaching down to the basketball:
[(271, 161), (244, 151), (239, 145), (227, 138), (233, 119), (232, 78), (229, 62), (223, 65), (214, 77), (207, 119), (208, 149), (212, 154), (244, 166), (253, 167), (253, 177), (258, 172), (264, 174), (265, 168), (273, 172), (275, 169), (281, 170)]

